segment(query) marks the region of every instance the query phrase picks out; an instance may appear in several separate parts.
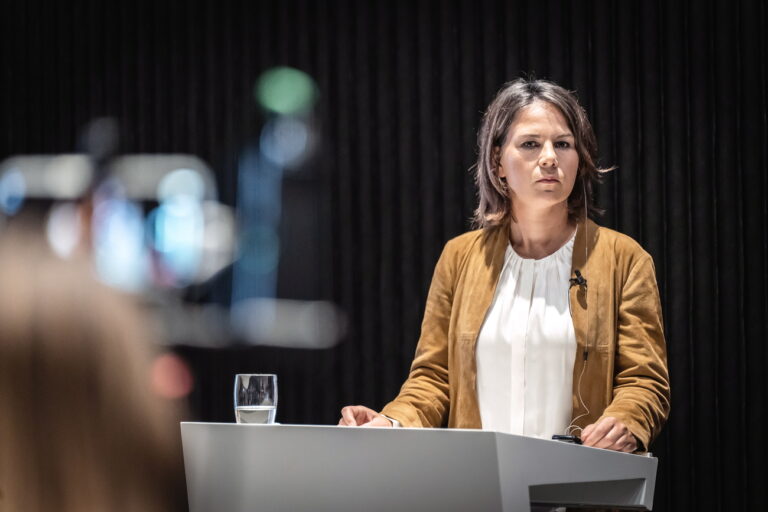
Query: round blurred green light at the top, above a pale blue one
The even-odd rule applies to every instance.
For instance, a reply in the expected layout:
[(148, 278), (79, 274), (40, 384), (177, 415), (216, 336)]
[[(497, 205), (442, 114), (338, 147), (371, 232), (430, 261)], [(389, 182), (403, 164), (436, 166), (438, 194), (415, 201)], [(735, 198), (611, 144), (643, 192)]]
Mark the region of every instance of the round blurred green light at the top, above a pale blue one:
[(315, 102), (315, 82), (295, 68), (277, 67), (262, 73), (254, 95), (262, 108), (276, 114), (290, 115), (309, 111)]

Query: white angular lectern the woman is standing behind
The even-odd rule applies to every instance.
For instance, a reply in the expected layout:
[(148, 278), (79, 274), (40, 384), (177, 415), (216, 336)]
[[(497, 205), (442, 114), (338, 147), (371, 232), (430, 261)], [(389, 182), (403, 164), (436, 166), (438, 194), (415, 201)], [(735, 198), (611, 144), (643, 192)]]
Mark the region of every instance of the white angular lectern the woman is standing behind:
[(182, 423), (191, 512), (650, 510), (653, 457), (479, 430)]

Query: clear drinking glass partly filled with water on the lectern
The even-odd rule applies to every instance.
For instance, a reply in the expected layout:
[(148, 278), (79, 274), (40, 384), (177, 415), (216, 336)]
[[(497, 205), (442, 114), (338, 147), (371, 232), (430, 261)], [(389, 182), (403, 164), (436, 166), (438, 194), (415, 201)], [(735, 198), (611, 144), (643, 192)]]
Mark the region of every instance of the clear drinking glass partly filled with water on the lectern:
[(238, 423), (274, 423), (277, 375), (235, 375), (235, 419)]

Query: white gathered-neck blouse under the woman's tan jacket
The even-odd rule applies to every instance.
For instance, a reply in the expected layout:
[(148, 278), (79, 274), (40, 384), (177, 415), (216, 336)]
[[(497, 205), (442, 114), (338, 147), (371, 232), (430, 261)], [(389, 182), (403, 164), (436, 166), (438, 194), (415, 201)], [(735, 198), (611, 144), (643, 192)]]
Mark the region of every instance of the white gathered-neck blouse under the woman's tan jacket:
[(477, 340), (483, 430), (551, 438), (571, 422), (576, 334), (568, 288), (575, 237), (540, 260), (507, 247)]

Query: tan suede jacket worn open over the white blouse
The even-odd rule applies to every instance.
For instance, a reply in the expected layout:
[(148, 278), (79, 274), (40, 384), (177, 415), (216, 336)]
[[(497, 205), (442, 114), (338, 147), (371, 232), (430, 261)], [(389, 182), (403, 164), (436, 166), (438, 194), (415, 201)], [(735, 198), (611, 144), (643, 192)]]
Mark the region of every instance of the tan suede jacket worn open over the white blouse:
[[(410, 375), (382, 410), (384, 415), (404, 427), (482, 428), (475, 345), (508, 243), (504, 226), (471, 231), (446, 244), (432, 278)], [(587, 283), (570, 289), (578, 343), (575, 424), (583, 428), (613, 416), (644, 450), (658, 435), (670, 406), (653, 260), (628, 236), (588, 221), (579, 223), (576, 233), (572, 277), (577, 269)], [(577, 394), (582, 368), (581, 397), (588, 413)]]

